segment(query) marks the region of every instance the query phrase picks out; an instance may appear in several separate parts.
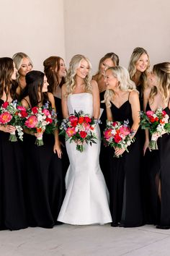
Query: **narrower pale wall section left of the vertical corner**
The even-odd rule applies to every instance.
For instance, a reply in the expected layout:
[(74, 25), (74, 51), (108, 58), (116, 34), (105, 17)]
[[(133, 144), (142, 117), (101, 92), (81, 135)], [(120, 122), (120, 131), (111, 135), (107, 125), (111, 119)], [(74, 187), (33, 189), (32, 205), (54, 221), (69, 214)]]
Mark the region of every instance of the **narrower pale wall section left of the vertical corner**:
[(0, 0), (0, 56), (18, 51), (34, 69), (51, 55), (65, 59), (63, 0)]

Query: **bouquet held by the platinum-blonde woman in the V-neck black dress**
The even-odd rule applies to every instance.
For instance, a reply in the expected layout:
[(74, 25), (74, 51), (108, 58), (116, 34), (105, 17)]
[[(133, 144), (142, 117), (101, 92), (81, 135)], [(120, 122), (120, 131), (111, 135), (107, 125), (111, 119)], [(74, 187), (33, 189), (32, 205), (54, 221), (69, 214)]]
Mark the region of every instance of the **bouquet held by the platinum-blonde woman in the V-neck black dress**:
[[(129, 152), (128, 146), (135, 141), (135, 138), (128, 124), (129, 121), (107, 121), (107, 127), (104, 129), (104, 144)], [(119, 158), (122, 155), (113, 156)]]

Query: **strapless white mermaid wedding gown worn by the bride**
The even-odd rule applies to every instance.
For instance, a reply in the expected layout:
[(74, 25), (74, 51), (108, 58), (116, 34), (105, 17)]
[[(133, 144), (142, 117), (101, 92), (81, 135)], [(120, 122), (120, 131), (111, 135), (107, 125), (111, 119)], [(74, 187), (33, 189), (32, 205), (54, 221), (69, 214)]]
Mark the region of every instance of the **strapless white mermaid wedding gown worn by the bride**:
[[(90, 93), (68, 95), (68, 111), (82, 110), (93, 114), (93, 97)], [(109, 223), (108, 191), (99, 166), (100, 131), (97, 125), (97, 144), (84, 144), (84, 151), (76, 150), (75, 142), (66, 142), (70, 166), (66, 174), (66, 196), (58, 221), (73, 225)]]

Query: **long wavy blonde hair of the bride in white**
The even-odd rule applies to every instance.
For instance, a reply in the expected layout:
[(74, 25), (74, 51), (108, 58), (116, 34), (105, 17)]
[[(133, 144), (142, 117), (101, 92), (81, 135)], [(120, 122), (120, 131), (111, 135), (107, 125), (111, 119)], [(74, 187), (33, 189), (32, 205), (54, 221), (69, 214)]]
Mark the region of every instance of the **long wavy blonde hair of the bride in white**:
[(89, 64), (89, 73), (84, 78), (85, 82), (85, 92), (92, 93), (91, 88), (91, 63), (88, 58), (84, 55), (76, 54), (70, 61), (67, 76), (66, 76), (66, 96), (73, 93), (73, 90), (76, 87), (76, 69), (81, 66), (81, 61), (85, 60)]

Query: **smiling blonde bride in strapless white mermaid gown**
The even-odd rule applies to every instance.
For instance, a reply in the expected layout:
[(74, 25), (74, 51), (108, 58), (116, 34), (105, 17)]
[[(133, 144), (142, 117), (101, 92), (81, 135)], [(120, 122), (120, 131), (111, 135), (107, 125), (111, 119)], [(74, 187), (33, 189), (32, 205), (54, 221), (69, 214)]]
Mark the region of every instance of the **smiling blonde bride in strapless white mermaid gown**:
[[(63, 117), (78, 111), (99, 118), (99, 89), (91, 80), (91, 63), (82, 55), (71, 59), (66, 84), (62, 87)], [(76, 150), (75, 142), (66, 142), (70, 166), (66, 174), (66, 197), (58, 221), (73, 225), (109, 223), (108, 191), (99, 166), (100, 132), (95, 127), (97, 144), (84, 144), (84, 151)]]

